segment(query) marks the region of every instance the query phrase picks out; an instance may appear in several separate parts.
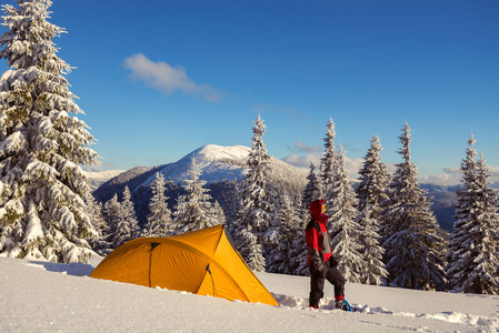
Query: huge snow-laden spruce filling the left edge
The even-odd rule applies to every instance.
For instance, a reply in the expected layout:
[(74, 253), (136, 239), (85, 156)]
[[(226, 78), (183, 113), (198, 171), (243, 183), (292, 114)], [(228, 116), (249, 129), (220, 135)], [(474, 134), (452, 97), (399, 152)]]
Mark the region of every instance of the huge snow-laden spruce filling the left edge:
[(87, 262), (97, 238), (84, 198), (89, 182), (80, 164), (98, 154), (88, 127), (72, 114), (64, 75), (70, 65), (52, 39), (66, 32), (48, 22), (50, 0), (3, 6), (0, 57), (0, 252), (52, 262)]

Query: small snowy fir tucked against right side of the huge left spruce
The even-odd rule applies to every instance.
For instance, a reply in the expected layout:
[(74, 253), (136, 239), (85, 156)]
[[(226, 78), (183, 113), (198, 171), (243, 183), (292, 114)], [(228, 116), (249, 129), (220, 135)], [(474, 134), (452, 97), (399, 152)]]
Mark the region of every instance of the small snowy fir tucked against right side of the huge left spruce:
[(87, 209), (93, 229), (98, 234), (98, 238), (92, 240), (90, 245), (98, 254), (107, 255), (111, 251), (110, 244), (109, 242), (107, 242), (107, 236), (109, 234), (110, 228), (102, 214), (102, 203), (97, 202), (93, 195), (90, 193), (87, 196)]

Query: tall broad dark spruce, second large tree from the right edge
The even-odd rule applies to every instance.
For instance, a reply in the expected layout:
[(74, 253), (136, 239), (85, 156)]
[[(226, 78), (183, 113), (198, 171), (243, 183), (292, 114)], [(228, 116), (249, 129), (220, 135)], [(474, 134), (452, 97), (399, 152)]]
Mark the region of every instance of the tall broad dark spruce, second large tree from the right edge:
[(446, 284), (443, 242), (430, 210), (427, 191), (419, 188), (417, 169), (411, 161), (411, 129), (406, 122), (399, 137), (403, 161), (390, 182), (390, 200), (383, 214), (386, 270), (393, 286), (441, 290)]

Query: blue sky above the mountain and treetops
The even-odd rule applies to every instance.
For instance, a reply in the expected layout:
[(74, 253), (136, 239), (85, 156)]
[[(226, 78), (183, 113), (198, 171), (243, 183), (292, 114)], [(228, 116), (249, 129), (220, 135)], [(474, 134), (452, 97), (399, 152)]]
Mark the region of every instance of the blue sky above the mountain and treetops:
[(498, 1), (56, 0), (51, 11), (101, 170), (249, 147), (261, 114), (269, 154), (296, 165), (320, 155), (329, 118), (349, 165), (373, 135), (398, 163), (407, 120), (420, 180), (457, 182), (471, 133), (499, 175)]

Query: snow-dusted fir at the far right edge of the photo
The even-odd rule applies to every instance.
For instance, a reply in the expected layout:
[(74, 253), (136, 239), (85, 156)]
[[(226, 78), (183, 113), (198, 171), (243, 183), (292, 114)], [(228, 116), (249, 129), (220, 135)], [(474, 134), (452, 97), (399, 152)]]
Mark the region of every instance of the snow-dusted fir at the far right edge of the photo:
[(457, 219), (449, 243), (450, 287), (466, 293), (499, 293), (498, 196), (488, 182), (483, 158), (475, 161), (475, 139), (461, 162), (462, 189), (457, 192)]

